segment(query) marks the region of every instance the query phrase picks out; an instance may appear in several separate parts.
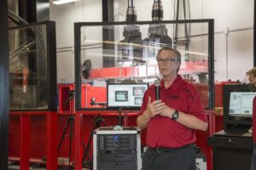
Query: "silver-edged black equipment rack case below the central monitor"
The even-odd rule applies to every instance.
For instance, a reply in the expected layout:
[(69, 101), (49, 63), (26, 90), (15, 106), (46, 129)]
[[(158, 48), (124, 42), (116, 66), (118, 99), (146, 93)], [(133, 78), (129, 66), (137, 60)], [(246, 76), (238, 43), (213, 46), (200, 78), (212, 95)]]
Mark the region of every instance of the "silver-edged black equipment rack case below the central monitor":
[(140, 170), (141, 137), (137, 127), (100, 127), (93, 134), (94, 170)]

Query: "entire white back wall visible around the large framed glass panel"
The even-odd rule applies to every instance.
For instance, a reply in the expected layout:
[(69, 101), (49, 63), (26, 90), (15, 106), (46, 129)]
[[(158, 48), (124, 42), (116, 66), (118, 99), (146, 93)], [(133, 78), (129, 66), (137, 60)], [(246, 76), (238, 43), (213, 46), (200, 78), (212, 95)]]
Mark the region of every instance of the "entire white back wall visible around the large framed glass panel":
[[(134, 1), (137, 20), (151, 20), (153, 0)], [(173, 20), (175, 0), (162, 0), (164, 20)], [(215, 80), (246, 82), (253, 67), (253, 0), (190, 0), (191, 19), (214, 19)], [(126, 0), (114, 0), (115, 21), (125, 20)], [(73, 23), (102, 21), (102, 0), (80, 0), (63, 5), (50, 3), (50, 20), (56, 22), (57, 80), (74, 81)]]

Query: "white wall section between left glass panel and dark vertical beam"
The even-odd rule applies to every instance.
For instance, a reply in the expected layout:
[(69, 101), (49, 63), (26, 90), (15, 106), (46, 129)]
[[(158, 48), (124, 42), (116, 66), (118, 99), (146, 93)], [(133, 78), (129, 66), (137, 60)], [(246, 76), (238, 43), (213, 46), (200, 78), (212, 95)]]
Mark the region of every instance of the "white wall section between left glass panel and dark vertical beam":
[(55, 5), (50, 2), (49, 18), (56, 23), (57, 82), (74, 82), (74, 23), (102, 21), (102, 0), (80, 0)]

